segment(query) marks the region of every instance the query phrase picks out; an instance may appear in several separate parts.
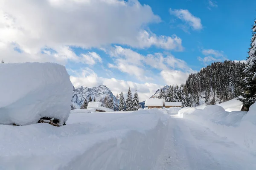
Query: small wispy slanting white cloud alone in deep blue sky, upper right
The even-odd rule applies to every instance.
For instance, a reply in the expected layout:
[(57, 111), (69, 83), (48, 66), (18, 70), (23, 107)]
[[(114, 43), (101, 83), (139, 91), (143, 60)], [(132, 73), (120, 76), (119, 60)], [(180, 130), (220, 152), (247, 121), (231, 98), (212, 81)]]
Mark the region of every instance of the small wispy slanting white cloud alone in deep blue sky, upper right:
[(192, 15), (187, 9), (169, 9), (170, 14), (175, 15), (180, 20), (186, 22), (195, 30), (201, 30), (203, 28), (201, 19)]

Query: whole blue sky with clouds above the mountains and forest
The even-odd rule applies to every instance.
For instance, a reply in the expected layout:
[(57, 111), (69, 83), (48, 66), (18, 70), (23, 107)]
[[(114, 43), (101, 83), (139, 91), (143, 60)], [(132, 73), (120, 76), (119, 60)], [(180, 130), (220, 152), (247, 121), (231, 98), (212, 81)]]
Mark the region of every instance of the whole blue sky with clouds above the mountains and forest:
[(255, 7), (253, 0), (9, 0), (0, 7), (0, 50), (6, 62), (65, 65), (76, 87), (131, 87), (143, 100), (211, 62), (244, 60)]

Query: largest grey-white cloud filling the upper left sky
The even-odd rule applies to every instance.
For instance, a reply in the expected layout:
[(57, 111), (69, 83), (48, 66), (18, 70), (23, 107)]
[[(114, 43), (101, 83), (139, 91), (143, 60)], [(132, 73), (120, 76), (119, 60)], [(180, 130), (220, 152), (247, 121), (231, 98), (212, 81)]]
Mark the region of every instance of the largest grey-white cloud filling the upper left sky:
[[(181, 51), (179, 37), (157, 36), (144, 30), (148, 23), (160, 21), (150, 6), (137, 0), (0, 0), (0, 43), (9, 48), (1, 54), (12, 62), (63, 63), (67, 59), (77, 60), (73, 54), (67, 54), (72, 52), (69, 46), (104, 50), (105, 45), (117, 43)], [(11, 51), (13, 44), (20, 48), (23, 57)], [(44, 48), (55, 51), (55, 55), (45, 57), (51, 54), (48, 51), (42, 59)], [(58, 54), (61, 51), (64, 55)], [(85, 60), (93, 62), (91, 56)]]

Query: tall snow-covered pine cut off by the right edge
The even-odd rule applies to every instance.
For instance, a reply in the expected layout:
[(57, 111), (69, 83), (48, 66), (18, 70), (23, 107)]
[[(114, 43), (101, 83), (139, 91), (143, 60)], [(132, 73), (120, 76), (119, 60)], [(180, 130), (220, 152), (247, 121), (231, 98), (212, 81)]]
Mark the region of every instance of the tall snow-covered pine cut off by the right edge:
[(250, 105), (256, 102), (256, 20), (253, 25), (253, 37), (251, 39), (247, 66), (244, 69), (244, 87), (242, 98), (239, 99), (249, 109)]

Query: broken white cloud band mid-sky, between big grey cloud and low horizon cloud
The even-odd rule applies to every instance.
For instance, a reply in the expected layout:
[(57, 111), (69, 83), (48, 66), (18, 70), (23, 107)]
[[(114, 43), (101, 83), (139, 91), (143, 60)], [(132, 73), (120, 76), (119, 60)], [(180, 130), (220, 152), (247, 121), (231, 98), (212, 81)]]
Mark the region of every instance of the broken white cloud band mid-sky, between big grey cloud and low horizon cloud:
[[(108, 64), (109, 68), (116, 68), (119, 71), (134, 75), (138, 80), (155, 80), (161, 79), (164, 82), (169, 82), (169, 76), (173, 78), (172, 83), (179, 84), (186, 81), (187, 75), (193, 70), (189, 68), (187, 63), (182, 59), (177, 59), (172, 54), (148, 54), (143, 56), (128, 48), (115, 46), (108, 52), (112, 57), (114, 64)], [(156, 68), (160, 73), (153, 73), (151, 68)], [(164, 74), (168, 74), (165, 76)], [(180, 73), (180, 77), (178, 75)], [(150, 75), (150, 77), (148, 77)], [(157, 76), (161, 76), (160, 78)], [(186, 76), (184, 76), (186, 75)], [(185, 80), (184, 80), (185, 79)]]

